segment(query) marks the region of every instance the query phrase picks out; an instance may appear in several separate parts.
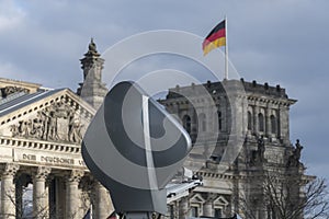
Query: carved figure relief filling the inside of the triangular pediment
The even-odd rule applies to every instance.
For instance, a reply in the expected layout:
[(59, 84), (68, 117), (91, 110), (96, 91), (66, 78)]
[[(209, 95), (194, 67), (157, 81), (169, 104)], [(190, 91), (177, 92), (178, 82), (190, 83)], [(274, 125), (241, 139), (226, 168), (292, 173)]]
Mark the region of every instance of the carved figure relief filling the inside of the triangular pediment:
[(64, 100), (37, 112), (35, 118), (10, 126), (12, 137), (80, 143), (82, 125), (79, 115)]

